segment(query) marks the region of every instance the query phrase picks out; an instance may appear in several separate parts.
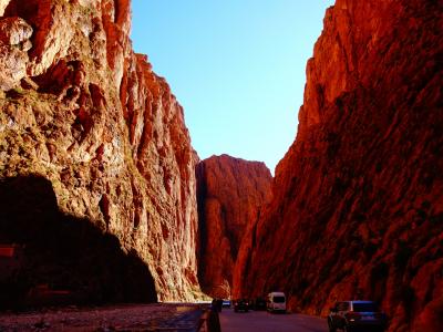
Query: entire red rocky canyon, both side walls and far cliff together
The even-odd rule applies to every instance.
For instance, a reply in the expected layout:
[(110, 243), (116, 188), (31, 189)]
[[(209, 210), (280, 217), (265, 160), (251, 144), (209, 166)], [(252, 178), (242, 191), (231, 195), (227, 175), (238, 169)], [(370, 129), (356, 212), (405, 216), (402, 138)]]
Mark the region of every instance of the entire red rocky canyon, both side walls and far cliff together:
[(440, 331), (442, 12), (337, 0), (272, 179), (199, 160), (128, 0), (0, 0), (1, 309), (281, 290), (291, 311), (365, 298), (390, 331)]

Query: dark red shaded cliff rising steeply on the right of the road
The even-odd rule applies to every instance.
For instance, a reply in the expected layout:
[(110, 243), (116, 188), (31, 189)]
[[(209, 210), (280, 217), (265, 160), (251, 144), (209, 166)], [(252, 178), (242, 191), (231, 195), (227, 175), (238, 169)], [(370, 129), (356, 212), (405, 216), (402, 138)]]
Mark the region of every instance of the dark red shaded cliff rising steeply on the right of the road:
[(281, 289), (291, 309), (322, 314), (367, 298), (391, 331), (443, 325), (442, 27), (435, 1), (327, 11), (236, 294)]

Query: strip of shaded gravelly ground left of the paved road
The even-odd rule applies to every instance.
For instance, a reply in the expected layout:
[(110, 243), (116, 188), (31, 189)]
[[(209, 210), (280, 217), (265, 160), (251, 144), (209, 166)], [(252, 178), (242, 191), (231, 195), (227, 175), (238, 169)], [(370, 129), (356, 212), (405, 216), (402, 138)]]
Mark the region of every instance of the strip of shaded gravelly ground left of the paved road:
[(0, 331), (196, 331), (198, 304), (120, 304), (51, 308), (27, 313), (0, 312)]

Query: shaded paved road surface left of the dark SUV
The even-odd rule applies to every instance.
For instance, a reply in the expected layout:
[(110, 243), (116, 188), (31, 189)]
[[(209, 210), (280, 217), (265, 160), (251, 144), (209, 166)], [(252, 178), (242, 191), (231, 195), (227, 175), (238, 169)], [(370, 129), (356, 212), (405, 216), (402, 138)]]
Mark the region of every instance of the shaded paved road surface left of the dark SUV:
[(327, 332), (326, 319), (287, 313), (277, 314), (266, 311), (234, 312), (223, 309), (220, 315), (222, 332)]

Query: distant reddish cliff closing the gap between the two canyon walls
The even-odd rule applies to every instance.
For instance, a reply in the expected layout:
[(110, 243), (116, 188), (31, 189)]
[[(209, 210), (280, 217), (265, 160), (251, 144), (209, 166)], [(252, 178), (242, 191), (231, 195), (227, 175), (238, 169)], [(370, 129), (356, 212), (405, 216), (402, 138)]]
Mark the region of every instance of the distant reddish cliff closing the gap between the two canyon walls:
[(213, 156), (196, 168), (199, 210), (198, 277), (202, 290), (229, 298), (234, 263), (249, 224), (271, 198), (272, 177), (264, 163)]

